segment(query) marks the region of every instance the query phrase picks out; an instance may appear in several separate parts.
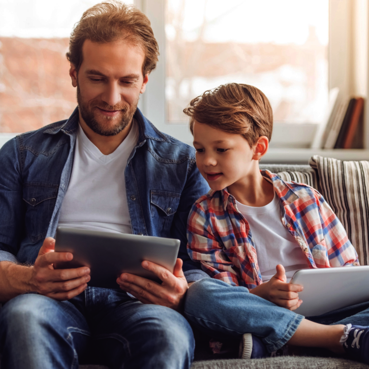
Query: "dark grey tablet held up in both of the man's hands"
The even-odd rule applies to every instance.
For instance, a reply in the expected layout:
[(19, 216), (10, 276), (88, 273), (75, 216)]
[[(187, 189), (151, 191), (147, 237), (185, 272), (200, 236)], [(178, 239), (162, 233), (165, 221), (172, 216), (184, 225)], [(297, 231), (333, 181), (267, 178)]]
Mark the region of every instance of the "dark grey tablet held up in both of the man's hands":
[(73, 259), (58, 263), (58, 269), (87, 266), (91, 270), (89, 286), (119, 288), (116, 279), (123, 272), (160, 281), (142, 268), (152, 261), (173, 272), (180, 241), (169, 238), (58, 227), (55, 251), (71, 252)]

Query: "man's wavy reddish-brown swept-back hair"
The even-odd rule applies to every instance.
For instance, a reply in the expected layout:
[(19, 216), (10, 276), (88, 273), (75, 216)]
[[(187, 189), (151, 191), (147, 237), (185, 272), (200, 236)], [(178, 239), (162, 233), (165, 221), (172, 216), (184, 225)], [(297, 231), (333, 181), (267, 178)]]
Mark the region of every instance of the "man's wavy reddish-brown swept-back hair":
[(159, 49), (149, 18), (132, 5), (111, 0), (87, 9), (70, 35), (66, 57), (78, 71), (82, 64), (82, 46), (85, 40), (106, 43), (124, 40), (142, 48), (145, 76), (156, 66)]

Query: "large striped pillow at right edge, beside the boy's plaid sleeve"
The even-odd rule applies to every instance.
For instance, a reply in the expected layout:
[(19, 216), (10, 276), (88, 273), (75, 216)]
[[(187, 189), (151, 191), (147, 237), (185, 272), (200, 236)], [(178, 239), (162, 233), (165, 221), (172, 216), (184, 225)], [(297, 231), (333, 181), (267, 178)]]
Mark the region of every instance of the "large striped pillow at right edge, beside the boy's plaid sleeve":
[(341, 161), (314, 155), (319, 191), (343, 224), (361, 265), (369, 264), (369, 161)]

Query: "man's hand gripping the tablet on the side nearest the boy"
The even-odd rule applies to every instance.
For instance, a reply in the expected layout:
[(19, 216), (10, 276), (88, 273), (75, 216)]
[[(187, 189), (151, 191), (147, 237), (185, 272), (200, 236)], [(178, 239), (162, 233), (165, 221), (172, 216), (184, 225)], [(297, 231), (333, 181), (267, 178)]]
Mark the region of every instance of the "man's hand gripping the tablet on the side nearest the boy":
[(117, 278), (117, 283), (123, 291), (129, 292), (144, 304), (162, 305), (179, 310), (188, 289), (182, 265), (182, 259), (177, 259), (172, 274), (160, 265), (143, 261), (142, 267), (159, 277), (163, 281), (162, 284), (127, 273)]

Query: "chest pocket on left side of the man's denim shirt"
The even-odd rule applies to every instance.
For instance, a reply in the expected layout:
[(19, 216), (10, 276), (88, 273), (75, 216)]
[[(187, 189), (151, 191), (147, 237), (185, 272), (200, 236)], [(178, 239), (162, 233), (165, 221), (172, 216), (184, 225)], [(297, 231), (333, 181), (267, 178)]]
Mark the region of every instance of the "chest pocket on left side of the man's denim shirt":
[(25, 227), (31, 243), (46, 237), (58, 194), (58, 184), (26, 182), (23, 200), (26, 202)]

